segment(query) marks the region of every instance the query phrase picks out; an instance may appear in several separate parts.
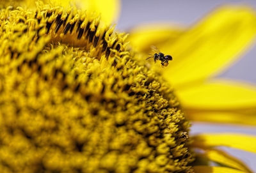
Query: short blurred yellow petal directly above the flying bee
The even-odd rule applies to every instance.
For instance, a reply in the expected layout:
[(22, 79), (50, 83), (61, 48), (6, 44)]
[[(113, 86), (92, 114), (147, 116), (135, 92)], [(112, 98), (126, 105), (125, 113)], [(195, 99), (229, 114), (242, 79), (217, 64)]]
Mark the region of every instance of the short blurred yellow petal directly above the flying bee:
[(134, 49), (149, 53), (150, 46), (154, 45), (159, 48), (166, 41), (175, 41), (184, 31), (185, 28), (181, 26), (143, 24), (129, 31), (128, 40)]

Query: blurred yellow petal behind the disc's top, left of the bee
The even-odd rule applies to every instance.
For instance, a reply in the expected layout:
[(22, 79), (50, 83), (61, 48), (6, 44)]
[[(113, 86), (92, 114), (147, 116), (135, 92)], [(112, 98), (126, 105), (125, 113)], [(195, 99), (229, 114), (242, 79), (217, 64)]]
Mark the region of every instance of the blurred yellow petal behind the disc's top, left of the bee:
[(118, 19), (120, 12), (119, 0), (53, 0), (61, 6), (76, 4), (79, 9), (97, 12), (106, 24), (111, 24)]

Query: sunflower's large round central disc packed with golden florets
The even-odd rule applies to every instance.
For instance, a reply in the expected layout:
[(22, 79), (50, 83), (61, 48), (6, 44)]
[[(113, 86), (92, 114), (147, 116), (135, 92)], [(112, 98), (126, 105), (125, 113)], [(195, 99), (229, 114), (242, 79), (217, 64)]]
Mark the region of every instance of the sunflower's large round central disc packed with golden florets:
[(76, 8), (0, 11), (2, 172), (193, 172), (173, 88)]

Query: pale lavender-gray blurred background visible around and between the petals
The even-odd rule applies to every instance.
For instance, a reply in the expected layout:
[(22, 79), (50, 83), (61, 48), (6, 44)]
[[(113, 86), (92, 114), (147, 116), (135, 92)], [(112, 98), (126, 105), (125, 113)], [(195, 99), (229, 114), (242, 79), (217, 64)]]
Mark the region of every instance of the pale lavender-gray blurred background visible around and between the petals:
[[(129, 31), (129, 29), (139, 24), (159, 21), (169, 21), (190, 26), (201, 19), (205, 14), (209, 13), (209, 11), (227, 3), (247, 4), (255, 8), (256, 11), (256, 0), (123, 0), (120, 19), (117, 22), (116, 28), (121, 31)], [(216, 54), (218, 54), (218, 52), (216, 52)], [(255, 55), (256, 41), (252, 49), (246, 52), (242, 59), (223, 71), (219, 77), (243, 80), (244, 82), (250, 82), (256, 86)], [(237, 132), (256, 135), (256, 128), (226, 124), (193, 124), (191, 133), (195, 134), (200, 132)], [(225, 149), (234, 154), (237, 158), (244, 160), (244, 162), (256, 172), (256, 154), (239, 151), (237, 149)]]

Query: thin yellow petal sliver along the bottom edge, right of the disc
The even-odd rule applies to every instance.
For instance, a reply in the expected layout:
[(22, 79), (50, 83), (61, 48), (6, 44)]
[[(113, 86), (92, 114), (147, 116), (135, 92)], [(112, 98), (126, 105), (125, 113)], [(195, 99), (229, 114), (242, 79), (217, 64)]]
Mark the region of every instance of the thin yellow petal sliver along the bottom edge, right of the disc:
[(243, 173), (242, 170), (230, 169), (227, 167), (209, 167), (209, 166), (196, 166), (193, 167), (195, 173)]

